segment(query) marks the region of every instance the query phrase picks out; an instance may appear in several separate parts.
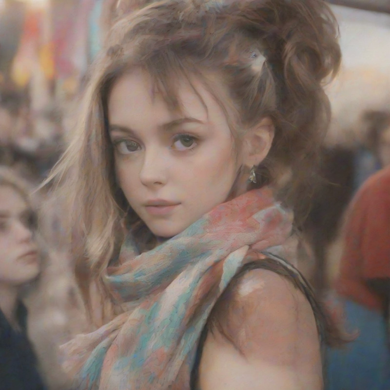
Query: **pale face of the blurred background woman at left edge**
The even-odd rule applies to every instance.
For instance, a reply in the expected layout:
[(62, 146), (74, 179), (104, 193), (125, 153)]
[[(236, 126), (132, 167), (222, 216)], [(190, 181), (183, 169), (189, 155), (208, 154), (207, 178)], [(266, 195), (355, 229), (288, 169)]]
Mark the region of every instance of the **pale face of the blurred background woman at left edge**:
[(0, 283), (20, 286), (39, 274), (33, 214), (20, 194), (0, 186)]

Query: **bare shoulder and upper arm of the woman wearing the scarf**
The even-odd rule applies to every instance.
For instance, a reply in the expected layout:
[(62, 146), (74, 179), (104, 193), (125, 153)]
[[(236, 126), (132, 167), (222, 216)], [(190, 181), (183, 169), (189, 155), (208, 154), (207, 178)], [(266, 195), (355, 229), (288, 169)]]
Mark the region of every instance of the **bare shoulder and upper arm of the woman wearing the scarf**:
[(312, 308), (286, 278), (261, 269), (245, 274), (213, 316), (199, 367), (201, 390), (322, 389)]

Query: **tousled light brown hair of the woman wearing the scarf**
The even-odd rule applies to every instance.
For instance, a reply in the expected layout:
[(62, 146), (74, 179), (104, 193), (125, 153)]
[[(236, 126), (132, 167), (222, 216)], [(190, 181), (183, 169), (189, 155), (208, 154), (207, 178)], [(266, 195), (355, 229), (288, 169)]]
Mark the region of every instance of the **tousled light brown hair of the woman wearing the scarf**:
[[(237, 142), (240, 129), (271, 117), (275, 136), (257, 168), (256, 185), (275, 181), (280, 168), (288, 167), (289, 183), (281, 194), (295, 210), (304, 203), (302, 181), (330, 119), (323, 83), (336, 73), (341, 56), (337, 24), (324, 1), (142, 3), (149, 4), (138, 9), (133, 4), (111, 29), (91, 68), (73, 141), (52, 176), (62, 183), (59, 191), (69, 195), (77, 216), (79, 245), (74, 248), (84, 292), (85, 279), (99, 280), (115, 256), (123, 218), (137, 227), (140, 240), (145, 236), (116, 183), (107, 134), (107, 99), (124, 73), (146, 70), (172, 110), (181, 108), (177, 78), (199, 79), (224, 110)], [(265, 59), (262, 66), (258, 57)], [(218, 92), (220, 84), (230, 99)]]

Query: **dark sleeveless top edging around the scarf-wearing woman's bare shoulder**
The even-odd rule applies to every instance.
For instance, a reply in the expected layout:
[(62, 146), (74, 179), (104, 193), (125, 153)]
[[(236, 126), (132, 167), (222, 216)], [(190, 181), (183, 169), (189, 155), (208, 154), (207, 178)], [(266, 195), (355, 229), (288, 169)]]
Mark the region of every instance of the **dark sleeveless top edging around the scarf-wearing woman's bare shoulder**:
[[(321, 308), (319, 303), (316, 301), (314, 292), (312, 290), (312, 287), (310, 284), (306, 281), (305, 277), (294, 267), (292, 266), (288, 261), (286, 261), (284, 258), (272, 254), (270, 252), (262, 252), (263, 255), (267, 256), (265, 259), (261, 260), (255, 260), (248, 262), (245, 264), (238, 273), (234, 276), (233, 280), (231, 281), (230, 285), (227, 289), (230, 288), (232, 283), (236, 283), (237, 280), (242, 277), (244, 274), (255, 270), (255, 269), (263, 269), (263, 270), (269, 270), (273, 271), (286, 279), (288, 279), (295, 288), (300, 290), (305, 296), (306, 299), (309, 301), (312, 311), (314, 313), (315, 322), (317, 325), (317, 331), (319, 334), (320, 339), (320, 345), (321, 345), (321, 357), (322, 361), (324, 361), (325, 356), (325, 345), (326, 345), (326, 333), (327, 333), (327, 327), (329, 327), (327, 315), (325, 314), (324, 310)], [(202, 333), (200, 334), (199, 341), (198, 341), (198, 347), (196, 351), (195, 356), (195, 362), (194, 366), (191, 370), (191, 377), (190, 377), (190, 388), (191, 390), (201, 390), (198, 386), (198, 379), (199, 379), (199, 365), (200, 360), (202, 357), (202, 351), (203, 346), (206, 341), (206, 337), (208, 334), (209, 328), (208, 323), (206, 323), (205, 327), (203, 328)]]

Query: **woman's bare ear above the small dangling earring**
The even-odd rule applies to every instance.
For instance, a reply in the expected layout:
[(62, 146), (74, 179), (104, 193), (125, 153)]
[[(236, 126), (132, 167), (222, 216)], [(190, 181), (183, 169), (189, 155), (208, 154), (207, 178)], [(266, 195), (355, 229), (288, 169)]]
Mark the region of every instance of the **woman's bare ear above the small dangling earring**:
[(243, 164), (253, 167), (260, 164), (271, 149), (275, 126), (270, 117), (264, 117), (260, 123), (249, 129), (243, 139)]

